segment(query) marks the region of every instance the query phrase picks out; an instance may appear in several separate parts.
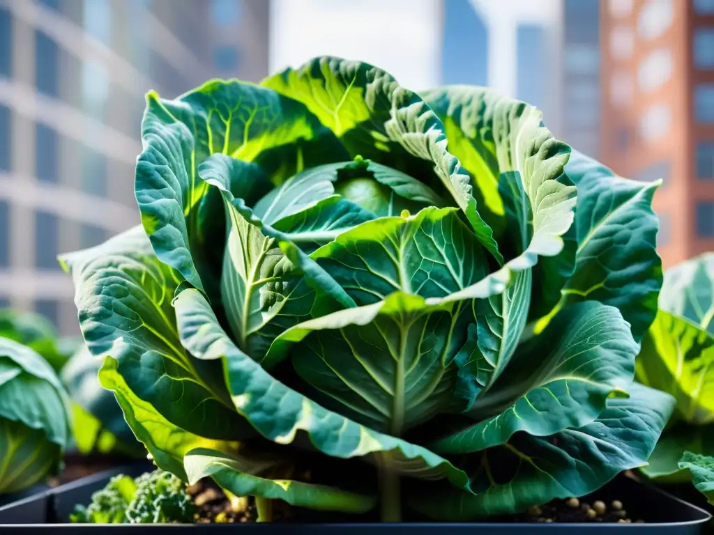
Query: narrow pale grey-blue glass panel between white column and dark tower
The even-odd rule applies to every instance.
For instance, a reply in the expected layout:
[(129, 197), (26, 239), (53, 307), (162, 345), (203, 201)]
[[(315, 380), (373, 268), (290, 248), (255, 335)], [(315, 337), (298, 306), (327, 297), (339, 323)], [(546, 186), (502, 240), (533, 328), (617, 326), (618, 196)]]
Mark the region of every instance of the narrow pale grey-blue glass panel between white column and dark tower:
[(543, 109), (548, 72), (545, 34), (541, 26), (516, 29), (516, 98)]

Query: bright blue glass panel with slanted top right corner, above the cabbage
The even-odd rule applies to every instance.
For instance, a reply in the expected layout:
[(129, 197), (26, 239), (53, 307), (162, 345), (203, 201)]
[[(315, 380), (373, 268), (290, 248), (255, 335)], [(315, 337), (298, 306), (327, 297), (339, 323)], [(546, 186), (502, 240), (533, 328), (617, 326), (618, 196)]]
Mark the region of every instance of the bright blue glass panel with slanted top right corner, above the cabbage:
[[(442, 83), (488, 86), (488, 26), (470, 0), (443, 2)], [(471, 51), (480, 50), (481, 54)]]

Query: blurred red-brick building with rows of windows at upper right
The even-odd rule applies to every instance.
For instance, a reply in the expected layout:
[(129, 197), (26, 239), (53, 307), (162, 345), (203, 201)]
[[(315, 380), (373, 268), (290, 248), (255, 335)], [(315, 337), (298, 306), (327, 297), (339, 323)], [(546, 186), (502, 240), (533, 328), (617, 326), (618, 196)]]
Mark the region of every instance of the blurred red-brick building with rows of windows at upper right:
[(655, 194), (665, 267), (714, 250), (714, 0), (601, 6), (603, 162)]

